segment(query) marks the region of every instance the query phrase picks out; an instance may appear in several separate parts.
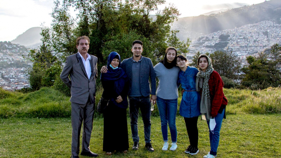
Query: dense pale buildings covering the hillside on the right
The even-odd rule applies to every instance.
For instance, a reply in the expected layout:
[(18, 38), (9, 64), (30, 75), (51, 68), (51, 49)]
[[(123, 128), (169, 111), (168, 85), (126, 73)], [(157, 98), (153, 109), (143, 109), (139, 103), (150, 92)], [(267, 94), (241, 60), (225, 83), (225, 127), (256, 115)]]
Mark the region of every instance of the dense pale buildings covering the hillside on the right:
[(216, 50), (232, 51), (237, 58), (241, 59), (242, 65), (245, 65), (247, 56), (257, 56), (258, 52), (276, 43), (280, 44), (280, 37), (280, 24), (274, 21), (262, 21), (201, 36), (192, 41), (187, 56), (193, 56), (198, 51), (201, 54), (212, 53)]

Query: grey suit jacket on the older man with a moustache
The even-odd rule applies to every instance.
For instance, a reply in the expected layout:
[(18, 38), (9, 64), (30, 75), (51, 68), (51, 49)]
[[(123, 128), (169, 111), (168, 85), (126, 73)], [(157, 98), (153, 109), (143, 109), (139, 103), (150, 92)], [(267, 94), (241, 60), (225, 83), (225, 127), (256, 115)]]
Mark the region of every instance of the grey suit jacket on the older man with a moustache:
[[(86, 104), (90, 96), (91, 103), (95, 102), (97, 57), (90, 55), (91, 77), (88, 79), (86, 69), (79, 53), (67, 56), (61, 79), (71, 90), (70, 102)], [(70, 75), (70, 79), (68, 77)]]

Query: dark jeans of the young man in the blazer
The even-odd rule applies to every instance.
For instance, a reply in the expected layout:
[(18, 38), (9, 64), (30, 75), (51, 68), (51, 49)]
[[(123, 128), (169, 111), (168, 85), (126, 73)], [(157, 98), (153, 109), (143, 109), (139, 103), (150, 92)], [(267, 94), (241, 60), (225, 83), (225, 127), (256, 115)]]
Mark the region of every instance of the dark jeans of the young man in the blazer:
[(150, 143), (150, 131), (151, 131), (151, 103), (150, 97), (128, 97), (129, 98), (129, 111), (131, 118), (131, 131), (132, 138), (134, 142), (139, 142), (140, 138), (138, 136), (138, 113), (139, 109), (143, 118), (144, 125), (144, 138), (145, 143)]

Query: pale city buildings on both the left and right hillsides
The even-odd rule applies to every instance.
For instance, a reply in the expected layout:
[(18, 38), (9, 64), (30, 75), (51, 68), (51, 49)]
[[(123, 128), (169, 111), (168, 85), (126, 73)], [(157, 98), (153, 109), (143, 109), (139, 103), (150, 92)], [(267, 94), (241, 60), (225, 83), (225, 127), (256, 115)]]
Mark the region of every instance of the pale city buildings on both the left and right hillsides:
[[(184, 32), (181, 32), (184, 33)], [(225, 29), (203, 35), (192, 41), (186, 57), (190, 62), (198, 51), (212, 53), (216, 50), (232, 51), (246, 65), (246, 57), (257, 56), (273, 44), (280, 44), (281, 26), (274, 21), (248, 24), (235, 29)], [(11, 42), (0, 42), (0, 86), (6, 90), (30, 87), (28, 68), (32, 62), (24, 58), (29, 48)]]

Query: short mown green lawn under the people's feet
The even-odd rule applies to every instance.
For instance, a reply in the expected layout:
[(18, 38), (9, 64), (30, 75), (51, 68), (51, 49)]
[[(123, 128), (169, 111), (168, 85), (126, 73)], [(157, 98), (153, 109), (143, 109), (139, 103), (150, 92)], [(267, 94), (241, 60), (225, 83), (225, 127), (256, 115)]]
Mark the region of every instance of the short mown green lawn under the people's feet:
[[(281, 157), (281, 114), (237, 114), (228, 115), (223, 120), (218, 147), (218, 158), (272, 158)], [(129, 152), (114, 153), (110, 157), (194, 157), (202, 158), (210, 150), (208, 126), (206, 121), (198, 120), (199, 153), (191, 156), (184, 150), (189, 145), (184, 119), (176, 119), (178, 148), (175, 151), (162, 151), (162, 134), (159, 117), (152, 117), (151, 139), (155, 152), (144, 148), (143, 123), (139, 118), (140, 149), (131, 150), (133, 144), (129, 127)], [(0, 119), (0, 157), (1, 158), (65, 158), (71, 155), (70, 118), (8, 118)], [(114, 130), (113, 130), (114, 131)], [(170, 133), (169, 133), (170, 141)], [(90, 148), (99, 157), (108, 157), (102, 151), (103, 119), (95, 118)], [(171, 143), (171, 142), (170, 142)], [(118, 145), (118, 142), (113, 142)], [(170, 146), (169, 146), (170, 147)], [(85, 156), (79, 156), (86, 158)]]

